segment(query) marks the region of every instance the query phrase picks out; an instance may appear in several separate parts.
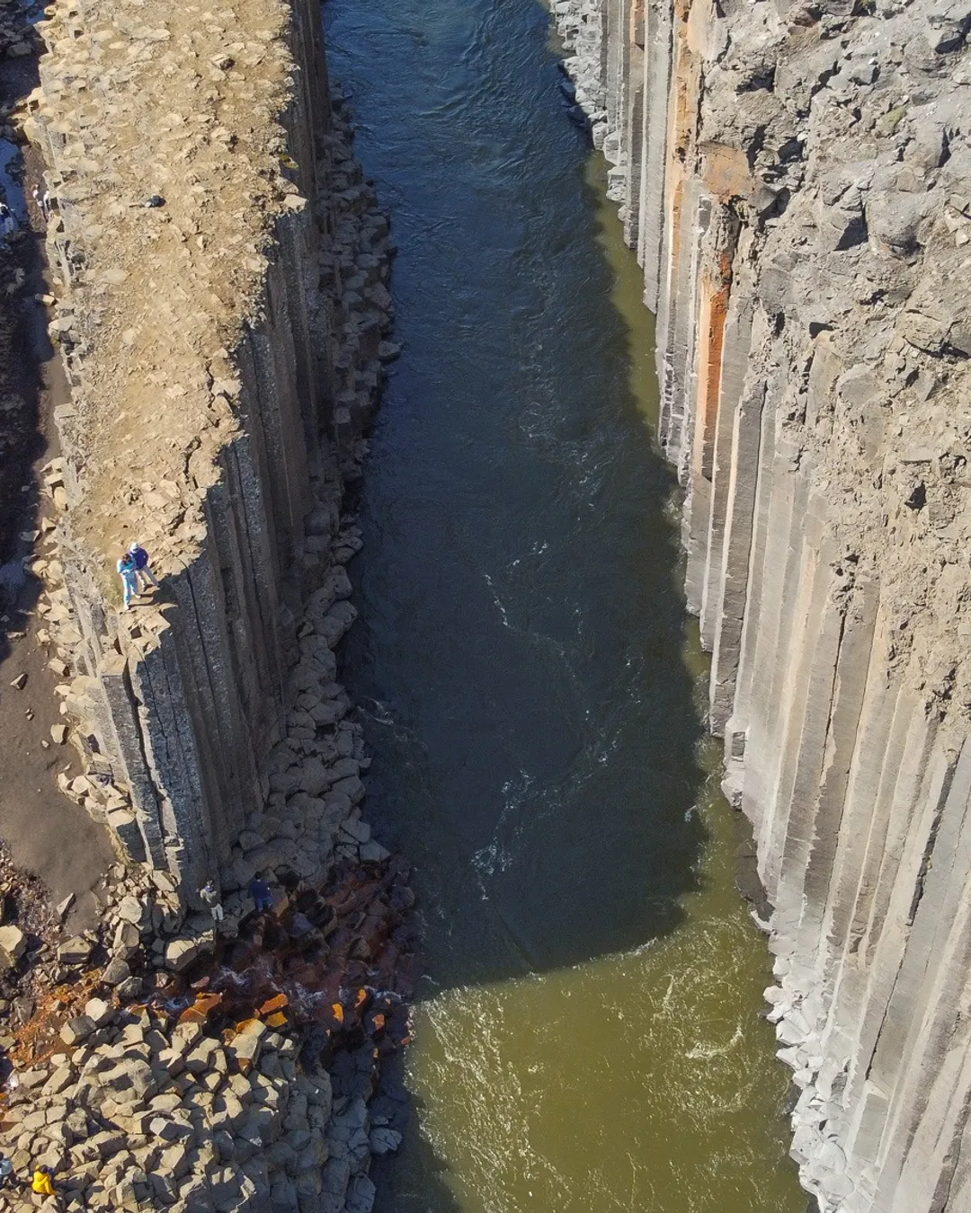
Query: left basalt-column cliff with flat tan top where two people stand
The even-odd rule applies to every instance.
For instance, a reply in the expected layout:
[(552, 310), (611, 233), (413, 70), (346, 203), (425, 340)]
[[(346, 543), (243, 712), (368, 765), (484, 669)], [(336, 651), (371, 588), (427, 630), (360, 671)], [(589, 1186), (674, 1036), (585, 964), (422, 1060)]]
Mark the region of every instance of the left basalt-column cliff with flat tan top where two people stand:
[[(317, 0), (83, 0), (40, 28), (27, 131), (72, 388), (40, 571), (85, 763), (62, 786), (194, 889), (326, 673), (299, 627), (376, 404), (387, 222), (331, 133)], [(132, 540), (163, 591), (123, 611)]]

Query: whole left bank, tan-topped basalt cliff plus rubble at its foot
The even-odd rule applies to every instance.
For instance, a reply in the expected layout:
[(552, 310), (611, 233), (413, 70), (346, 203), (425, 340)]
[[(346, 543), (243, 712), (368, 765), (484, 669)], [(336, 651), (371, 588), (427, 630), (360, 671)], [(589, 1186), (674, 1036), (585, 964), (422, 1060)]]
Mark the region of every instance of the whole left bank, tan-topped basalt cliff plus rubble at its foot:
[[(0, 1149), (66, 1209), (369, 1213), (413, 898), (362, 820), (334, 650), (343, 488), (397, 354), (387, 216), (317, 0), (83, 0), (40, 28), (24, 127), (70, 398), (36, 643), (84, 764), (58, 781), (120, 862), (70, 939), (5, 900)], [(124, 610), (136, 539), (161, 583)]]

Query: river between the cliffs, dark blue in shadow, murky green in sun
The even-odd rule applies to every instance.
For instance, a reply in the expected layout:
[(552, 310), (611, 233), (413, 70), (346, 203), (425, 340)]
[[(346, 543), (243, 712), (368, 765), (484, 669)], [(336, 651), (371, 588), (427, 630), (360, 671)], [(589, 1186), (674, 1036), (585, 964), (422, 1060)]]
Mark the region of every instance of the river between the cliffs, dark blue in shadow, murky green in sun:
[(802, 1213), (653, 328), (534, 0), (329, 0), (405, 342), (345, 654), (425, 978), (385, 1213)]

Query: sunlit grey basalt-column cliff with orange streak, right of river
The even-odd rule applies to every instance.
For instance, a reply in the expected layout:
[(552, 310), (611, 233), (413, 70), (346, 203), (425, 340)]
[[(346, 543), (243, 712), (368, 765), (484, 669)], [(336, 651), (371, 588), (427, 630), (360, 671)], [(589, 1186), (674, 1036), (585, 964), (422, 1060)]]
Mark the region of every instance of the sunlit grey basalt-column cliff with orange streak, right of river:
[(971, 1208), (971, 5), (561, 0), (819, 1207)]

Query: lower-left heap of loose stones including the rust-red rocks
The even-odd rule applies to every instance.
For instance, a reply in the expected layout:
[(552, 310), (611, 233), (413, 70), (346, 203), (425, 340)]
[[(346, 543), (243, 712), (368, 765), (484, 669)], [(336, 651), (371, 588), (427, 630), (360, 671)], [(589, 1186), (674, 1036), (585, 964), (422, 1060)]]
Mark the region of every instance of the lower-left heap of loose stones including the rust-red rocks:
[(67, 1209), (368, 1213), (371, 1152), (401, 1143), (401, 1100), (368, 1101), (407, 1040), (407, 872), (278, 875), (273, 913), (239, 905), (218, 935), (164, 873), (119, 878), (100, 930), (58, 947), (0, 1104), (18, 1175), (51, 1167)]

